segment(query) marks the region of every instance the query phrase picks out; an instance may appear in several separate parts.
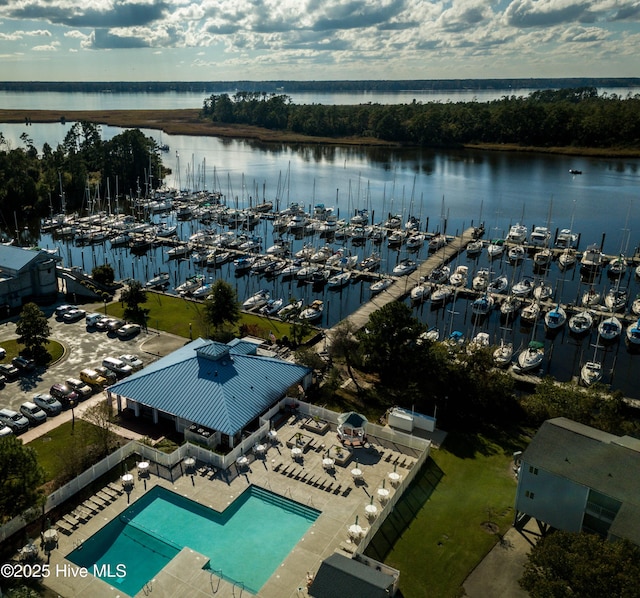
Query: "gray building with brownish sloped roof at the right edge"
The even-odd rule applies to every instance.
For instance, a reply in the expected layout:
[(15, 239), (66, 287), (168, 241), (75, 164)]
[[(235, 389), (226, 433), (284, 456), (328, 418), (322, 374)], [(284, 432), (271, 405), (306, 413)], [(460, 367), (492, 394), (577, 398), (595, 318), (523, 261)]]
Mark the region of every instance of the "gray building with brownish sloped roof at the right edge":
[(640, 545), (640, 440), (556, 418), (521, 457), (516, 522)]

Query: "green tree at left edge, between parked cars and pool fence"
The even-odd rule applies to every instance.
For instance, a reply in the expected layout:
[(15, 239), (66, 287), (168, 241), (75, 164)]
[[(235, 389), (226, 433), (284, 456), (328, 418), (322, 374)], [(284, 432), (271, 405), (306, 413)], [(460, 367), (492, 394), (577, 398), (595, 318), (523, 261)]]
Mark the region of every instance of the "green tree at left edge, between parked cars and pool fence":
[(39, 505), (43, 481), (36, 452), (13, 435), (0, 438), (0, 520)]

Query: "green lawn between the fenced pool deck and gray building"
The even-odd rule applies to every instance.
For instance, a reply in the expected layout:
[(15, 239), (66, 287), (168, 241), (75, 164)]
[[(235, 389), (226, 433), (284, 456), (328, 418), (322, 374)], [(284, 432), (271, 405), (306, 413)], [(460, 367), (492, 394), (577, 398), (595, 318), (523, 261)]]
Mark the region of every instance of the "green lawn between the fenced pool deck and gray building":
[[(508, 439), (509, 440), (509, 439)], [(519, 438), (499, 444), (483, 436), (450, 435), (433, 449), (416, 481), (387, 519), (367, 554), (400, 570), (412, 598), (454, 598), (513, 520), (516, 481), (510, 472)]]

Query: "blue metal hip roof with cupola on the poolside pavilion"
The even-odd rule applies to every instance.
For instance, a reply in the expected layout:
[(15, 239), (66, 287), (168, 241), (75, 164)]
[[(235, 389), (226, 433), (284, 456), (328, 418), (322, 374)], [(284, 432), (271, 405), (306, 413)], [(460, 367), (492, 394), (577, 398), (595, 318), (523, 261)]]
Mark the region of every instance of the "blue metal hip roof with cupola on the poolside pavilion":
[[(236, 353), (234, 349), (197, 339), (109, 390), (189, 422), (234, 435), (310, 372), (288, 361)], [(220, 357), (214, 359), (215, 355)]]

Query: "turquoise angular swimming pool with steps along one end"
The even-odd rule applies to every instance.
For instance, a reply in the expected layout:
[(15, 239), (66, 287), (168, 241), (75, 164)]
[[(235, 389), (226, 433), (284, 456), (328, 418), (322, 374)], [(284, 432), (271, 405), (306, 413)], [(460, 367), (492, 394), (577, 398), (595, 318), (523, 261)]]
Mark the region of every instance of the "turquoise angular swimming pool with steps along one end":
[[(217, 575), (257, 593), (320, 512), (250, 486), (223, 513), (155, 486), (67, 559), (133, 596), (182, 548), (209, 557)], [(101, 575), (99, 575), (101, 576)]]

